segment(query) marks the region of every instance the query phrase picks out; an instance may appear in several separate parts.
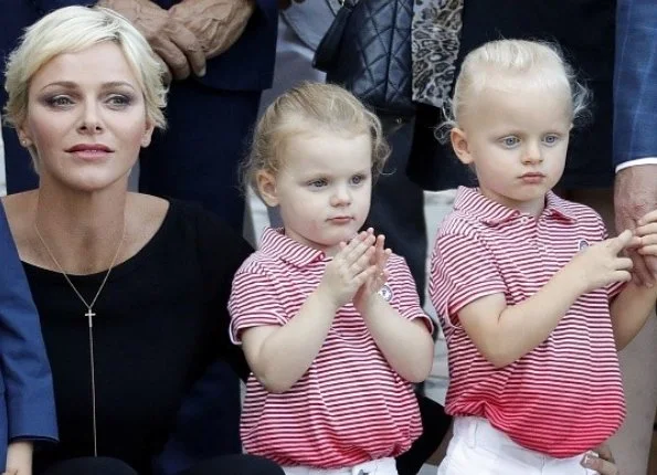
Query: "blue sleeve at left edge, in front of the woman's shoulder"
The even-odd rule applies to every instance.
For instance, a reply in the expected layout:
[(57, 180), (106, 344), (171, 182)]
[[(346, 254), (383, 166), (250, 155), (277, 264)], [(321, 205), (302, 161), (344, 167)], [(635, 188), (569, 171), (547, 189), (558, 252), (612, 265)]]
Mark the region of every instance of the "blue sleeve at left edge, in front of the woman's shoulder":
[(9, 440), (56, 440), (50, 363), (39, 315), (0, 205), (0, 365)]

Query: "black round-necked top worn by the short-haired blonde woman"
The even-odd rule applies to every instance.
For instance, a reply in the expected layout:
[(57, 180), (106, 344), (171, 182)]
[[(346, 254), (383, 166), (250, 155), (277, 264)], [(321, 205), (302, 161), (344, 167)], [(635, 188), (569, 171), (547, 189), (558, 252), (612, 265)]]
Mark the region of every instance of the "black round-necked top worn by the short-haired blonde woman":
[[(177, 455), (168, 451), (186, 444), (205, 451), (199, 458), (240, 453), (235, 372), (247, 369), (229, 340), (226, 302), (233, 274), (251, 252), (214, 215), (172, 201), (150, 242), (112, 271), (94, 305), (98, 455), (147, 475), (173, 463)], [(93, 455), (89, 334), (86, 308), (62, 274), (23, 265), (41, 315), (60, 424), (61, 443), (35, 454), (39, 474), (53, 462)], [(91, 302), (104, 276), (71, 279)], [(235, 372), (227, 365), (218, 369), (218, 359)], [(209, 386), (216, 392), (203, 418), (192, 388), (211, 363), (220, 380)], [(195, 420), (186, 422), (190, 414)]]

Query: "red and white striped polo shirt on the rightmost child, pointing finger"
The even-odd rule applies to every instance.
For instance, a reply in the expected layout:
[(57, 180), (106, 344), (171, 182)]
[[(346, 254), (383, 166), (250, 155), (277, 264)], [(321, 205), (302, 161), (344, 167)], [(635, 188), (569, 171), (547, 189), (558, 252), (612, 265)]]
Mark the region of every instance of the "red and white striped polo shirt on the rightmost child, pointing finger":
[(518, 444), (554, 457), (605, 441), (625, 416), (610, 317), (622, 284), (582, 295), (548, 339), (500, 369), (457, 318), (486, 295), (504, 293), (515, 305), (537, 293), (580, 249), (605, 239), (600, 215), (550, 192), (533, 218), (463, 187), (454, 208), (438, 231), (430, 283), (449, 351), (446, 411), (486, 418)]

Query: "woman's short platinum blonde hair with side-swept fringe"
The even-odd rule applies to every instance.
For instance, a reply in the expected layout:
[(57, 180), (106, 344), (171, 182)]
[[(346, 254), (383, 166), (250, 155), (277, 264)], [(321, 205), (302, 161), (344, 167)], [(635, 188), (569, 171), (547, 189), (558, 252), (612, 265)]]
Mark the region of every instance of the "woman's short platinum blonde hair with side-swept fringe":
[(9, 56), (4, 89), (9, 99), (4, 120), (21, 126), (28, 115), (30, 82), (53, 57), (76, 53), (105, 41), (116, 43), (135, 72), (144, 93), (146, 116), (156, 127), (165, 128), (163, 108), (167, 88), (162, 65), (148, 41), (120, 14), (102, 7), (65, 7), (46, 14), (25, 30), (20, 44)]

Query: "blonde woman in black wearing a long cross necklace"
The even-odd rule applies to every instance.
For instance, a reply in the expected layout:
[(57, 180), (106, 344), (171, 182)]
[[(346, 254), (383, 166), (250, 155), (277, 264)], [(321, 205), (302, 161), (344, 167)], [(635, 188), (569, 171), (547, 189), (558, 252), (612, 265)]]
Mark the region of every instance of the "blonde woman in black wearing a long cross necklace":
[(40, 183), (3, 205), (60, 426), (35, 474), (282, 473), (241, 454), (248, 369), (226, 304), (251, 247), (198, 204), (128, 192), (166, 126), (161, 74), (131, 23), (98, 7), (43, 17), (8, 60), (4, 116)]

